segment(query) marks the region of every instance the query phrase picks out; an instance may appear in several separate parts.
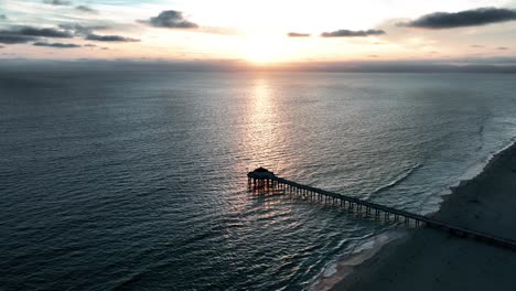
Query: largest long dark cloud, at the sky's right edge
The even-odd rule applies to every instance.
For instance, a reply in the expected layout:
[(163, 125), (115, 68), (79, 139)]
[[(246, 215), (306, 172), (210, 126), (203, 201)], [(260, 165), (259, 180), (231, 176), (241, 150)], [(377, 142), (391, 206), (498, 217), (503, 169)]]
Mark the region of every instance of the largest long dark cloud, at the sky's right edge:
[(409, 22), (398, 23), (399, 26), (420, 29), (455, 29), (464, 26), (486, 25), (491, 23), (516, 20), (516, 10), (498, 8), (479, 8), (454, 13), (434, 12)]

